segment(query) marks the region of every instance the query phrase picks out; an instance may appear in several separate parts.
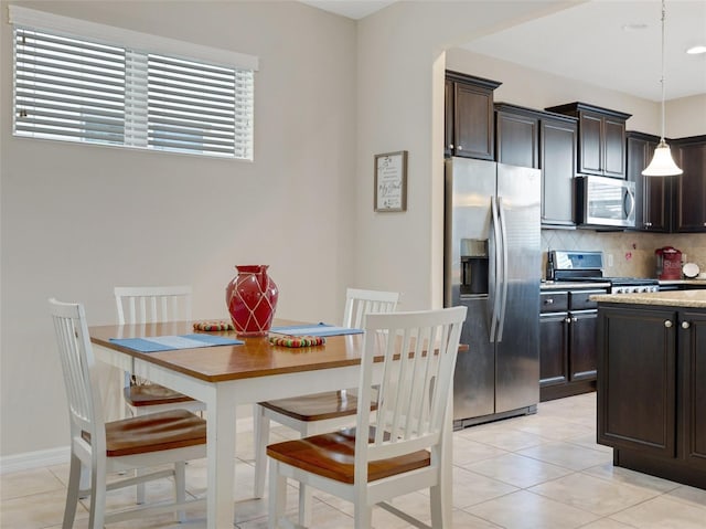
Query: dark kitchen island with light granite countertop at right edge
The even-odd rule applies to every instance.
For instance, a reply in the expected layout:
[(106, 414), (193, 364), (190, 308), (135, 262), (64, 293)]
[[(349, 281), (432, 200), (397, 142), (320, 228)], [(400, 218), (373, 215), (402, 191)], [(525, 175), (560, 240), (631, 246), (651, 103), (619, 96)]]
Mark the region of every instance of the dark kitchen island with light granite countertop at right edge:
[(706, 488), (706, 290), (598, 301), (598, 443), (613, 464)]

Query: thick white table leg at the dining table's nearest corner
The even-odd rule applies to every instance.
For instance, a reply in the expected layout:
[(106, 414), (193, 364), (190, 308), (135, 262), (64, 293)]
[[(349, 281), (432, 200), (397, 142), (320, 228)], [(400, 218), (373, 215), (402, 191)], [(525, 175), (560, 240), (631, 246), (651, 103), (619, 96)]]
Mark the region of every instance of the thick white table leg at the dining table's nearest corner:
[(227, 399), (225, 391), (216, 388), (216, 399), (207, 408), (206, 421), (208, 529), (234, 527), (235, 409), (235, 399)]

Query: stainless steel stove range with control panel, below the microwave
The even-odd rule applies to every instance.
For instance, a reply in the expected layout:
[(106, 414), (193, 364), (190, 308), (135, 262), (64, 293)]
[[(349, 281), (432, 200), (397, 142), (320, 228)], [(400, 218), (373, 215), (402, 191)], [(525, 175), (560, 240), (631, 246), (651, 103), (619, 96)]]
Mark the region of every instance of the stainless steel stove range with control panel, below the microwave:
[(602, 252), (552, 251), (557, 282), (609, 283), (610, 294), (657, 292), (660, 282), (648, 277), (605, 277)]

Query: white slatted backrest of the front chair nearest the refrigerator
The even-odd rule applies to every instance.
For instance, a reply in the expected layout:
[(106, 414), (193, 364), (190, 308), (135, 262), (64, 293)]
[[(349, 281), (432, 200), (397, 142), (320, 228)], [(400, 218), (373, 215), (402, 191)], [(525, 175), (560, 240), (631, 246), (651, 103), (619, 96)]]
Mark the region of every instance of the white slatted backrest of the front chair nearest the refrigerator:
[[(359, 387), (357, 431), (374, 427), (372, 441), (356, 438), (356, 479), (367, 462), (414, 449), (436, 449), (446, 427), (466, 307), (416, 313), (367, 314)], [(371, 417), (374, 353), (384, 351), (377, 413)], [(360, 459), (359, 459), (360, 458)], [(360, 474), (359, 474), (360, 473)]]

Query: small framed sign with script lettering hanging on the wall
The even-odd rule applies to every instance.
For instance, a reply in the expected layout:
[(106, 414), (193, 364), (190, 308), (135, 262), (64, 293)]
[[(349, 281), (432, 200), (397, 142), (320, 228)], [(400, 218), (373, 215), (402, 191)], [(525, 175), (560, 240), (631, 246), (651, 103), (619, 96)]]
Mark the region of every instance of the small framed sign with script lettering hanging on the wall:
[(407, 211), (407, 151), (375, 155), (375, 211)]

